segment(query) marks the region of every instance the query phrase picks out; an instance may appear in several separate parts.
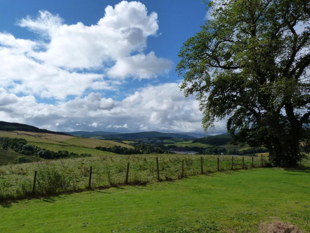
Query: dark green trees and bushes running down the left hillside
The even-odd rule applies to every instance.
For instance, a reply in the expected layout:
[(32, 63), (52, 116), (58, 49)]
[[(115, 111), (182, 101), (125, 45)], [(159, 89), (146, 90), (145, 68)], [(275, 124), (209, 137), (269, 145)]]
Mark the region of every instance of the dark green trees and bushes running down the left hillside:
[[(75, 157), (91, 157), (91, 154), (82, 153), (78, 155), (77, 153), (68, 152), (66, 150), (59, 150), (58, 152), (47, 150), (45, 148), (40, 148), (27, 144), (26, 139), (21, 138), (0, 138), (0, 144), (2, 149), (10, 148), (16, 153), (37, 156), (45, 159), (59, 159), (59, 158), (75, 158)], [(26, 157), (25, 157), (26, 158)], [(24, 158), (20, 158), (20, 161), (24, 161)], [(18, 161), (18, 162), (20, 162)], [(27, 160), (27, 162), (29, 162)]]

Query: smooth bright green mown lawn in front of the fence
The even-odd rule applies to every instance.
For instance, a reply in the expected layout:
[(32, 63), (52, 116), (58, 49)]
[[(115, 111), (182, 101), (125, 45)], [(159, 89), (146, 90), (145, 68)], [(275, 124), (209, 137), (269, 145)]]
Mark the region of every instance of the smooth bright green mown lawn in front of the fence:
[(310, 170), (260, 168), (21, 200), (0, 206), (0, 232), (310, 231)]

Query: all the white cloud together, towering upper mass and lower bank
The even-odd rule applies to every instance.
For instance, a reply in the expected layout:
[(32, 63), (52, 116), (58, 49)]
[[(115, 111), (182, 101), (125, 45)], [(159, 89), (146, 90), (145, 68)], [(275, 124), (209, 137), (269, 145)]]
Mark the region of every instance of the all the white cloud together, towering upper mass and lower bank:
[(0, 32), (2, 120), (63, 131), (202, 131), (198, 103), (184, 98), (178, 83), (148, 85), (122, 100), (100, 94), (128, 79), (155, 79), (172, 65), (144, 53), (158, 21), (142, 3), (108, 6), (91, 26), (67, 25), (48, 11), (17, 24), (37, 39)]

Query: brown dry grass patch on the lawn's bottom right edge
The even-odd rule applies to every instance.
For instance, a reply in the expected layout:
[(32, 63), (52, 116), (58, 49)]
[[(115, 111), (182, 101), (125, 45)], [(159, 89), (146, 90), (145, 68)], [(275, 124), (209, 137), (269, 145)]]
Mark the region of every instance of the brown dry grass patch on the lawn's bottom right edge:
[(290, 222), (273, 221), (270, 223), (262, 223), (259, 226), (260, 233), (303, 233)]

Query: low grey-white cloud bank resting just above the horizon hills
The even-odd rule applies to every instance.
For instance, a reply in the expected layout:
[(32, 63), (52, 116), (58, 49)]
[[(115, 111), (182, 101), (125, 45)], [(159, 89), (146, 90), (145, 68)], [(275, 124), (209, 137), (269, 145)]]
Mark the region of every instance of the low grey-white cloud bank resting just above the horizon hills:
[[(4, 103), (0, 105), (1, 119), (54, 130), (202, 131), (198, 102), (193, 96), (184, 98), (177, 83), (141, 88), (121, 101), (91, 93), (55, 105), (0, 89), (0, 103)], [(59, 125), (55, 127), (55, 123)], [(222, 124), (218, 126), (224, 132)]]

